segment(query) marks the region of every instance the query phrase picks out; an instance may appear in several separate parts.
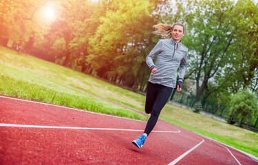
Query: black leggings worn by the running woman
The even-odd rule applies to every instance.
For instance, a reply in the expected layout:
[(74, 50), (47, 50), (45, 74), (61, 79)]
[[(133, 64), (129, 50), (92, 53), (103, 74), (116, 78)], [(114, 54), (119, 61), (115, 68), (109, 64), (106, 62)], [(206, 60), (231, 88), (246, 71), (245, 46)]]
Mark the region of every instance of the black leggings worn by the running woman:
[(144, 133), (151, 133), (155, 124), (158, 121), (158, 116), (160, 115), (160, 111), (165, 106), (167, 100), (169, 100), (169, 96), (172, 92), (171, 87), (166, 87), (164, 85), (148, 83), (147, 85), (147, 96), (145, 102), (145, 112), (151, 113), (151, 117), (147, 122), (147, 126), (145, 128)]

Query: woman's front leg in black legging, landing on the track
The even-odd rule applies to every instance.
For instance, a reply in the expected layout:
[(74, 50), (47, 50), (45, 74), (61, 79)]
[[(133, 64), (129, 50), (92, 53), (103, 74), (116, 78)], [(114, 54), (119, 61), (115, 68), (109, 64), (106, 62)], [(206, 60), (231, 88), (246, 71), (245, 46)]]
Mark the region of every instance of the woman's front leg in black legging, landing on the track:
[(169, 100), (169, 96), (171, 96), (172, 89), (173, 88), (159, 85), (158, 91), (157, 91), (157, 96), (155, 97), (155, 101), (153, 101), (154, 104), (153, 104), (153, 107), (151, 110), (151, 117), (149, 118), (149, 120), (147, 122), (147, 126), (144, 130), (144, 133), (147, 133), (147, 135), (149, 135), (149, 133), (151, 133), (155, 124), (157, 123), (158, 117), (160, 115), (160, 111), (165, 106), (167, 100)]

